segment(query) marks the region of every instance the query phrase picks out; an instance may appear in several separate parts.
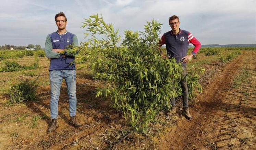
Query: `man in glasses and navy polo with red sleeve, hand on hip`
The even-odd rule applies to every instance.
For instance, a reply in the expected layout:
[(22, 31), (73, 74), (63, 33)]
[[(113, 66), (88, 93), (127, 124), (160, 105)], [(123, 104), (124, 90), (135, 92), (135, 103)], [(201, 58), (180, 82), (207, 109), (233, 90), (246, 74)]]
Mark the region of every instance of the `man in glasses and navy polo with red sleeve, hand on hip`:
[[(163, 34), (159, 41), (159, 46), (161, 47), (163, 44), (166, 44), (167, 56), (168, 58), (175, 58), (176, 63), (181, 63), (183, 69), (183, 76), (186, 76), (186, 63), (190, 60), (193, 56), (200, 49), (200, 42), (188, 31), (181, 30), (180, 20), (179, 17), (173, 15), (169, 18), (169, 25), (171, 27), (171, 31), (168, 31)], [(191, 54), (187, 55), (188, 44), (192, 43), (195, 47)], [(160, 49), (161, 50), (161, 49)], [(161, 52), (161, 51), (160, 51)], [(166, 58), (161, 52), (161, 55)], [(183, 98), (183, 113), (188, 120), (191, 120), (192, 117), (188, 110), (188, 88), (187, 88), (187, 81), (186, 78), (180, 81), (181, 89), (182, 89), (182, 98)], [(171, 114), (176, 113), (176, 106), (175, 106), (175, 98), (171, 98), (171, 104), (173, 106), (171, 110)]]

